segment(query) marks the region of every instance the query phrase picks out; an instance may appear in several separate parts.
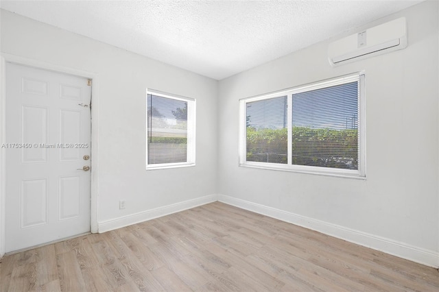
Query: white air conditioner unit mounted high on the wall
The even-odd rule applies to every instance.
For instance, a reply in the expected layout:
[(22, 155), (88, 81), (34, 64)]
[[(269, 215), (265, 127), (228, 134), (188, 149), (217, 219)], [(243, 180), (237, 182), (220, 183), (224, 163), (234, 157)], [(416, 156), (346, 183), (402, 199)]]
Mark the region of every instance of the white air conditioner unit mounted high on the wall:
[(405, 17), (371, 27), (357, 34), (331, 42), (331, 65), (344, 64), (407, 47)]

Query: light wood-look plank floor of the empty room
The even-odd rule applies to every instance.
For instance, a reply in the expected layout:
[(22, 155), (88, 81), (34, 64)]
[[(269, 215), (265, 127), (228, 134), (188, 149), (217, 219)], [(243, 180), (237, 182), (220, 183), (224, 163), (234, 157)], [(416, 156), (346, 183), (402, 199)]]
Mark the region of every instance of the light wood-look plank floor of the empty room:
[(219, 202), (1, 259), (1, 291), (439, 291), (436, 269)]

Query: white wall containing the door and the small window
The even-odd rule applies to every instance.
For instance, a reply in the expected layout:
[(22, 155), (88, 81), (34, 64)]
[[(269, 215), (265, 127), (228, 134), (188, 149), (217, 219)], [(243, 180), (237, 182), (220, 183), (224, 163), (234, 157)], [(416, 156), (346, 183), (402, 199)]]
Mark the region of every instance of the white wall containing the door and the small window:
[[(1, 53), (97, 73), (100, 231), (189, 208), (216, 193), (216, 80), (5, 10)], [(145, 170), (146, 88), (196, 99), (195, 167)], [(126, 209), (119, 210), (119, 199)], [(165, 209), (147, 212), (155, 208)]]

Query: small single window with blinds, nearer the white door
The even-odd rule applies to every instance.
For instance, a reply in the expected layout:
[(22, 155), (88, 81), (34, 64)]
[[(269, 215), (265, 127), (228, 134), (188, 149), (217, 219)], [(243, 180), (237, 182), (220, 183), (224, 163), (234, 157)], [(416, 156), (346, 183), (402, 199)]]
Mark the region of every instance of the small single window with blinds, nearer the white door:
[(147, 90), (146, 168), (195, 165), (195, 100)]

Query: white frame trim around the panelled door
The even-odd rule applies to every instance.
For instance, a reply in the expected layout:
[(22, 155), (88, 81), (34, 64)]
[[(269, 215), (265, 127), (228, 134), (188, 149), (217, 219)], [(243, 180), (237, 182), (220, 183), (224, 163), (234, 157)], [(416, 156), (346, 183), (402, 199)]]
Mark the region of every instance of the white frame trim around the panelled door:
[[(91, 73), (87, 71), (77, 70), (66, 66), (58, 66), (48, 62), (42, 62), (38, 60), (32, 60), (23, 58), (21, 56), (15, 56), (8, 53), (1, 53), (0, 55), (0, 145), (5, 143), (6, 138), (6, 64), (15, 63), (24, 66), (35, 67), (37, 69), (43, 69), (47, 71), (55, 71), (58, 73), (64, 73), (69, 75), (76, 75), (92, 80), (91, 87), (91, 178), (90, 178), (90, 231), (92, 233), (99, 232), (97, 225), (97, 212), (98, 212), (98, 173), (99, 163), (98, 159), (98, 136), (97, 130), (99, 122), (99, 76), (97, 73)], [(6, 188), (5, 188), (5, 165), (6, 149), (0, 148), (0, 258), (5, 254), (5, 202), (6, 202)]]

